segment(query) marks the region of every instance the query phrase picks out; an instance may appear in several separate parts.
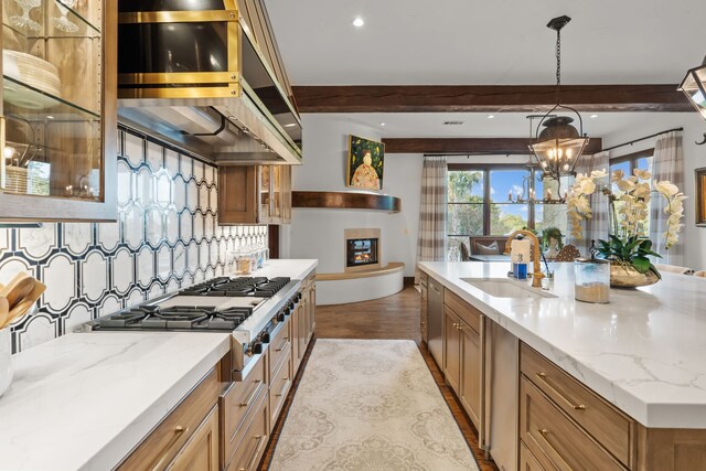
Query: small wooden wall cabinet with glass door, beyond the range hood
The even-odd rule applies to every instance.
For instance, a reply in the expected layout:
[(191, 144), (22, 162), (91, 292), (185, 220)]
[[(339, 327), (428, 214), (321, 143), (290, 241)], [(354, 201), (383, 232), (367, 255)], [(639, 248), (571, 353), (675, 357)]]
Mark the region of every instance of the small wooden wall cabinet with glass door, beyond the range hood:
[(289, 224), (290, 165), (233, 165), (218, 171), (218, 224)]

